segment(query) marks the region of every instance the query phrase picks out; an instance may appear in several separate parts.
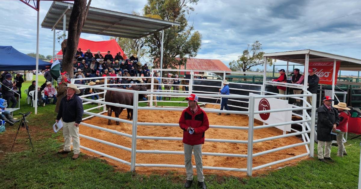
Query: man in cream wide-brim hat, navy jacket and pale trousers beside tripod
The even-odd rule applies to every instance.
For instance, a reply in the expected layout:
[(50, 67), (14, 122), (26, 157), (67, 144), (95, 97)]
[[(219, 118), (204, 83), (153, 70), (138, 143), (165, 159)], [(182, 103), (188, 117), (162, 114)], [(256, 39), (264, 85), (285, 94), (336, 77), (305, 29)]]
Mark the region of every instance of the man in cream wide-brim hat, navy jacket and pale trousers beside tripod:
[(79, 140), (79, 124), (82, 122), (83, 117), (83, 102), (79, 96), (80, 90), (75, 84), (68, 84), (64, 86), (67, 95), (61, 99), (56, 122), (62, 119), (63, 122), (63, 136), (64, 148), (59, 150), (58, 153), (66, 154), (70, 152), (71, 140), (73, 139), (73, 152), (72, 159), (77, 159), (80, 153), (80, 140)]

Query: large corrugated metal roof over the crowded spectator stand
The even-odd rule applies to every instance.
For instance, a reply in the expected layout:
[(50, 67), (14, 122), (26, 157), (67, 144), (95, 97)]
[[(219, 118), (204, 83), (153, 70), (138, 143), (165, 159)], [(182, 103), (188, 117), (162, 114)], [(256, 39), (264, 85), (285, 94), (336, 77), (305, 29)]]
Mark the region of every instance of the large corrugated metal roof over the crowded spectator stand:
[[(41, 26), (63, 30), (65, 14), (68, 30), (72, 9), (72, 3), (54, 1)], [(179, 26), (179, 23), (90, 7), (82, 33), (138, 39), (172, 26)]]

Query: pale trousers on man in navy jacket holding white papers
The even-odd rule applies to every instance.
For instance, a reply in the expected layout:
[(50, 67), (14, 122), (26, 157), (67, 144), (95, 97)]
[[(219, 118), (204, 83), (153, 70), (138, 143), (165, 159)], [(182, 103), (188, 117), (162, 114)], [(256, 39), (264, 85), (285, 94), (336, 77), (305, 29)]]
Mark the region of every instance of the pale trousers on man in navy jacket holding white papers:
[(80, 153), (79, 127), (74, 126), (75, 122), (63, 122), (64, 151), (70, 151), (71, 139), (73, 139), (74, 154)]

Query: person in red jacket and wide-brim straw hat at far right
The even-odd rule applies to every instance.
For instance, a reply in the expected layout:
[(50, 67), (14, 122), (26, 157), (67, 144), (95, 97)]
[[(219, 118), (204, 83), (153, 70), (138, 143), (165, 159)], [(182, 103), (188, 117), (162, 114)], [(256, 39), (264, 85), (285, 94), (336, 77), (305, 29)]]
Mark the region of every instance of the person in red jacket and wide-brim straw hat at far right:
[(348, 119), (350, 118), (350, 113), (348, 113), (348, 110), (350, 110), (350, 108), (347, 108), (346, 103), (343, 102), (339, 102), (337, 105), (333, 105), (333, 107), (337, 108), (338, 111), (340, 112), (339, 113), (340, 123), (336, 127), (336, 129), (341, 131), (336, 135), (337, 145), (339, 147), (337, 150), (337, 156), (343, 157), (344, 155), (347, 155), (342, 139), (345, 132), (347, 132), (347, 123), (348, 123)]

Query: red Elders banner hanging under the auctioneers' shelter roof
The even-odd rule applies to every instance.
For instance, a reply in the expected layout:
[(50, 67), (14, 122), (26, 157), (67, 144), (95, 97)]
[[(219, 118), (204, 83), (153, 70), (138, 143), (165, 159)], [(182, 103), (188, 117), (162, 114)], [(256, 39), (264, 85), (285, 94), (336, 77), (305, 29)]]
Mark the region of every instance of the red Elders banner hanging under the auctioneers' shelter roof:
[[(334, 62), (309, 62), (308, 68), (316, 68), (315, 74), (319, 77), (319, 84), (332, 85)], [(336, 62), (335, 85), (339, 69), (340, 62)]]

